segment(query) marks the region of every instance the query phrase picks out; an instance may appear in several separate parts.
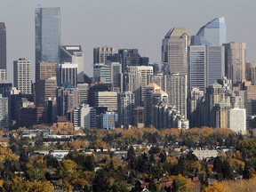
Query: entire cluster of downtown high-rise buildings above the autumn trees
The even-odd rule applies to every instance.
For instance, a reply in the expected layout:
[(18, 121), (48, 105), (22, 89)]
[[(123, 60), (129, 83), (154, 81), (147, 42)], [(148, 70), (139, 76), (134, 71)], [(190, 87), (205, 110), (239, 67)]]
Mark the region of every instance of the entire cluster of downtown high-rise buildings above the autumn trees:
[(212, 126), (245, 132), (256, 123), (256, 63), (245, 44), (226, 42), (224, 18), (190, 36), (171, 28), (162, 62), (138, 49), (93, 49), (93, 76), (84, 74), (81, 45), (60, 42), (60, 8), (36, 8), (35, 82), (32, 61), (13, 61), (6, 80), (6, 28), (0, 22), (0, 126), (53, 124), (57, 116), (80, 128), (158, 129)]

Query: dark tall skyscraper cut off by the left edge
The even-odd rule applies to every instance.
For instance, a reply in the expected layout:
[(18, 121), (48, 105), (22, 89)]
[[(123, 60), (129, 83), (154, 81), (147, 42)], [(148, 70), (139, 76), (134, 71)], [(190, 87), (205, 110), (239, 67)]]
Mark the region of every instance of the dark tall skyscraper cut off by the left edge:
[(0, 69), (6, 70), (6, 28), (4, 22), (0, 22)]

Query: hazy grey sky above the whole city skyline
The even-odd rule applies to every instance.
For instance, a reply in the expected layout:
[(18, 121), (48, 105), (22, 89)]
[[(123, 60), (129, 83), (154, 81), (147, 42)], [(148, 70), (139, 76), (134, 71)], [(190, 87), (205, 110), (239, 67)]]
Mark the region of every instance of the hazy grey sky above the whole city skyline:
[[(225, 17), (228, 42), (246, 43), (247, 60), (256, 60), (255, 0), (0, 0), (7, 30), (8, 80), (13, 60), (35, 62), (35, 8), (60, 7), (61, 44), (81, 44), (84, 72), (92, 75), (97, 46), (138, 48), (150, 62), (161, 61), (162, 38), (170, 28), (191, 35), (208, 21)], [(34, 75), (33, 75), (34, 76)]]

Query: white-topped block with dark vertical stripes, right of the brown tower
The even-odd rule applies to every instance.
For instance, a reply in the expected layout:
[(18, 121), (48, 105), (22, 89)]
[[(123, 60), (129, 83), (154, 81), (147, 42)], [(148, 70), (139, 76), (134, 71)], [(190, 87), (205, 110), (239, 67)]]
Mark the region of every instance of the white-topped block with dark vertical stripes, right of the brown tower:
[(59, 64), (57, 68), (57, 84), (70, 83), (77, 86), (77, 64), (63, 63)]

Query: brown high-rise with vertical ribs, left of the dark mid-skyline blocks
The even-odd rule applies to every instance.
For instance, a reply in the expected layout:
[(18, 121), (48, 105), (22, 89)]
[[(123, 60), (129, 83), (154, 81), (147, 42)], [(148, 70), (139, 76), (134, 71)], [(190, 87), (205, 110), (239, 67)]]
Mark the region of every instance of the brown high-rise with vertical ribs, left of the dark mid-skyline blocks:
[(93, 64), (107, 64), (107, 57), (115, 54), (114, 47), (97, 47), (93, 48)]

